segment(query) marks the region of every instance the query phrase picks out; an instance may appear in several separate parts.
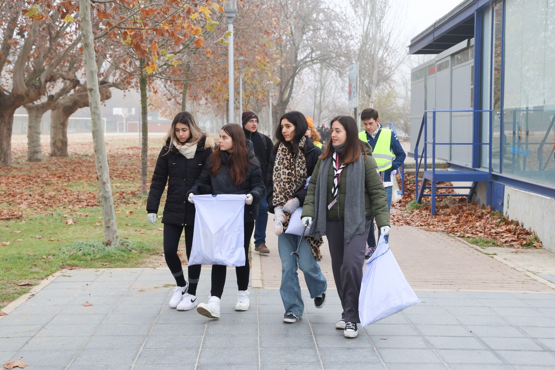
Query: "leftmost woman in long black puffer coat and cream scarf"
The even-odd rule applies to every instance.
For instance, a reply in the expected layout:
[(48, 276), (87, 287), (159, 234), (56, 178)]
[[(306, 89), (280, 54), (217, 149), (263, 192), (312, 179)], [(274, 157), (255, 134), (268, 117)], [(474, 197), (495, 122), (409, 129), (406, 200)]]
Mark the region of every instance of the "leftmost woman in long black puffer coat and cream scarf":
[(187, 267), (189, 283), (185, 281), (181, 259), (177, 254), (179, 238), (185, 229), (187, 259), (193, 246), (195, 206), (187, 201), (187, 194), (199, 177), (204, 163), (212, 154), (214, 139), (206, 136), (193, 116), (182, 111), (171, 123), (168, 139), (160, 151), (147, 200), (148, 220), (156, 225), (160, 197), (168, 182), (168, 196), (164, 206), (164, 256), (175, 277), (176, 287), (170, 307), (179, 311), (190, 310), (197, 305), (196, 286), (200, 277), (200, 265)]

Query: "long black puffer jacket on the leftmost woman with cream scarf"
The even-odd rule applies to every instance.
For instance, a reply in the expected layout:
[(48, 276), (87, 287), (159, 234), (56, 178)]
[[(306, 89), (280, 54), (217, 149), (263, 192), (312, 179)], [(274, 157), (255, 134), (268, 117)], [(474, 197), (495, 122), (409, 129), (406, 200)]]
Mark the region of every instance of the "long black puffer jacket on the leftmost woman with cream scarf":
[[(147, 212), (158, 213), (160, 197), (168, 183), (168, 197), (164, 206), (163, 224), (193, 225), (195, 205), (187, 201), (187, 194), (198, 179), (206, 160), (212, 154), (214, 139), (203, 136), (196, 146), (195, 156), (186, 159), (175, 146), (169, 150), (170, 139), (160, 151), (147, 199)], [(168, 154), (166, 154), (168, 153)]]

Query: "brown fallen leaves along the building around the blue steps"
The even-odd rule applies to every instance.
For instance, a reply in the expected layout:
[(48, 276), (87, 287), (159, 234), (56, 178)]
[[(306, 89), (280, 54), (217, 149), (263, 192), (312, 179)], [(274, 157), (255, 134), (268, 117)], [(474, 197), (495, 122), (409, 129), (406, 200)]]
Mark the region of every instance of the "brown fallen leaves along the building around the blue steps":
[[(391, 214), (394, 225), (420, 227), (427, 231), (445, 231), (465, 238), (484, 238), (495, 241), (496, 246), (512, 248), (541, 248), (542, 242), (521, 222), (508, 220), (489, 206), (482, 206), (466, 197), (436, 198), (436, 215), (432, 216), (430, 197), (426, 197), (420, 208), (407, 209), (407, 204), (416, 199), (415, 176), (405, 176), (405, 195), (392, 206), (400, 210)], [(438, 183), (451, 186), (451, 183)], [(429, 191), (428, 191), (429, 192)], [(438, 193), (450, 194), (452, 189), (438, 189)]]

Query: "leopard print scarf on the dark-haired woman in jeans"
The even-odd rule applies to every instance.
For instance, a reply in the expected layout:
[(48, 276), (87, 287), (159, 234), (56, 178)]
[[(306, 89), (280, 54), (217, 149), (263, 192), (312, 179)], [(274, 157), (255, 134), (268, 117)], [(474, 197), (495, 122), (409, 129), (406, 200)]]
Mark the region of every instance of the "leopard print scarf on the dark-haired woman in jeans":
[[(299, 142), (299, 154), (295, 155), (292, 151), (280, 143), (278, 152), (276, 153), (273, 181), (274, 181), (274, 206), (284, 206), (285, 202), (292, 199), (295, 195), (295, 190), (299, 189), (301, 185), (306, 183), (308, 174), (306, 172), (306, 158), (304, 152), (304, 145), (306, 143), (306, 136), (302, 136)], [(284, 231), (289, 225), (291, 214), (284, 211), (285, 222), (283, 224)], [(312, 254), (317, 261), (322, 260), (320, 253), (320, 246), (324, 243), (321, 237), (305, 236), (306, 241), (309, 242)]]

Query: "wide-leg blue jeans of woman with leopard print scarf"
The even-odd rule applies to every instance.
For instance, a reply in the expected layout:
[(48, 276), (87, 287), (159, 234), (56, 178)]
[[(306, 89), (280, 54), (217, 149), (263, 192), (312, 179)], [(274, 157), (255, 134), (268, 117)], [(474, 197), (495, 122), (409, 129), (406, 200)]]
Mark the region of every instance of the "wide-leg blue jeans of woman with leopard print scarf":
[[(302, 239), (299, 248), (300, 262), (297, 266), (297, 257), (290, 256), (297, 249), (299, 239)], [(302, 316), (305, 305), (302, 302), (301, 286), (299, 285), (299, 274), (297, 268), (305, 274), (306, 285), (309, 288), (310, 298), (321, 295), (326, 291), (327, 281), (316, 262), (309, 242), (302, 236), (293, 234), (281, 234), (278, 237), (278, 249), (281, 259), (281, 286), (279, 292), (285, 308), (285, 313), (292, 313), (298, 317)]]

